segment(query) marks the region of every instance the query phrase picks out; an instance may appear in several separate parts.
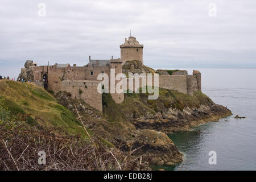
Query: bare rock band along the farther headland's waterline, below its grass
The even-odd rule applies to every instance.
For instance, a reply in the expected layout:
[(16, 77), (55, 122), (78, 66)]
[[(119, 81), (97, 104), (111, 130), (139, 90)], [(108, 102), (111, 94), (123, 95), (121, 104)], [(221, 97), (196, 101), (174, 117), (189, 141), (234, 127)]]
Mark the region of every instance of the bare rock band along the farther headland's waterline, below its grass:
[(186, 107), (183, 110), (169, 108), (163, 113), (147, 114), (144, 117), (131, 119), (131, 123), (138, 129), (151, 129), (172, 133), (190, 130), (191, 127), (209, 121), (218, 121), (232, 115), (226, 107), (214, 104), (211, 106), (200, 105), (199, 108)]

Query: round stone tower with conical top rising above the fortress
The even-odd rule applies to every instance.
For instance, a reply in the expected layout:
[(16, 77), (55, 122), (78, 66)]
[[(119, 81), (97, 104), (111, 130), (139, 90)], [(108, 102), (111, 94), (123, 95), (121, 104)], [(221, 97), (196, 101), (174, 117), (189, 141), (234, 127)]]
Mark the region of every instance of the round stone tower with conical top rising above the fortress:
[(126, 61), (138, 60), (143, 65), (143, 44), (139, 44), (134, 36), (130, 36), (128, 40), (125, 38), (125, 43), (120, 45), (120, 48), (123, 64)]

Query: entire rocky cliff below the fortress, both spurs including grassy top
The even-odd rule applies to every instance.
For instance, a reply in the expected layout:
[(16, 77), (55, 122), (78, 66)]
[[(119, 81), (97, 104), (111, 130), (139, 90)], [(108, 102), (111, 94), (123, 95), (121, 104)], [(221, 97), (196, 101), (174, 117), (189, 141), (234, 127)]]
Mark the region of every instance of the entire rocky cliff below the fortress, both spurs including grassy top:
[(215, 104), (201, 92), (188, 96), (174, 90), (159, 89), (157, 100), (148, 94), (125, 94), (125, 101), (116, 104), (110, 94), (102, 95), (104, 113), (83, 101), (72, 100), (68, 93), (56, 94), (57, 100), (74, 114), (76, 104), (86, 127), (113, 143), (122, 151), (152, 164), (174, 164), (182, 154), (166, 134), (190, 130), (193, 126), (231, 115), (224, 106)]

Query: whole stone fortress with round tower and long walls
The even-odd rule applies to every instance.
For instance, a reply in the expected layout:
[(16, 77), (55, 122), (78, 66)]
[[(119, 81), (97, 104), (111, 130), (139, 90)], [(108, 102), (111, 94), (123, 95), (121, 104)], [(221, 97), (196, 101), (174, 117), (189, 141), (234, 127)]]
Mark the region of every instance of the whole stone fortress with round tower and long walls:
[[(115, 75), (122, 73), (122, 66), (126, 61), (137, 60), (143, 65), (143, 44), (139, 44), (135, 37), (125, 38), (125, 43), (120, 45), (120, 49), (121, 58), (113, 59), (112, 56), (108, 60), (93, 60), (89, 56), (89, 63), (82, 67), (77, 67), (76, 64), (71, 66), (70, 64), (57, 63), (39, 66), (32, 60), (27, 60), (18, 79), (26, 81), (29, 79), (35, 85), (55, 93), (69, 92), (72, 98), (82, 99), (87, 104), (102, 111), (102, 97), (97, 91), (101, 80), (97, 80), (97, 76), (106, 73), (110, 78), (110, 69), (115, 70)], [(201, 73), (199, 71), (193, 71), (193, 75), (188, 75), (187, 71), (176, 71), (171, 75), (166, 71), (158, 72), (160, 73), (160, 88), (177, 90), (191, 96), (196, 90), (201, 90)], [(124, 99), (123, 93), (112, 93), (112, 97), (117, 103), (121, 103)]]

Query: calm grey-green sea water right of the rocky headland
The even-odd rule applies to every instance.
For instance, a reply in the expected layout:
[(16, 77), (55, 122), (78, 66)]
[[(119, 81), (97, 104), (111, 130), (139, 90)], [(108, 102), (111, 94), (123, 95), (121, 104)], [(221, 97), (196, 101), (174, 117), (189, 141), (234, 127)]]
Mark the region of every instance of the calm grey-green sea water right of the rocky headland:
[[(186, 70), (191, 74), (193, 69)], [(216, 104), (228, 106), (234, 115), (246, 119), (234, 119), (233, 115), (195, 127), (194, 131), (170, 134), (184, 161), (158, 168), (256, 170), (256, 69), (198, 70), (202, 73), (202, 91)], [(216, 151), (217, 164), (209, 164), (209, 151)]]

